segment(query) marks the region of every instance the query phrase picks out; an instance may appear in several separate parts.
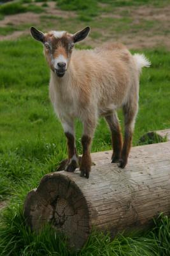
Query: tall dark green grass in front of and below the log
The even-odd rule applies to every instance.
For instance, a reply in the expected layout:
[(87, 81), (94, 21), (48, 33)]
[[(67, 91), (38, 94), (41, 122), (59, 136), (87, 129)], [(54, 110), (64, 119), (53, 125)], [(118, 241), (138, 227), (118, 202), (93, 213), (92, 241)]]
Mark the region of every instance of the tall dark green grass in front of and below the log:
[[(22, 214), (22, 198), (3, 212), (0, 226), (1, 256), (169, 256), (170, 220), (159, 216), (145, 232), (118, 234), (114, 239), (101, 232), (92, 232), (80, 252), (67, 247), (67, 238), (50, 226), (39, 234), (31, 232)], [(47, 236), (48, 234), (48, 236)]]

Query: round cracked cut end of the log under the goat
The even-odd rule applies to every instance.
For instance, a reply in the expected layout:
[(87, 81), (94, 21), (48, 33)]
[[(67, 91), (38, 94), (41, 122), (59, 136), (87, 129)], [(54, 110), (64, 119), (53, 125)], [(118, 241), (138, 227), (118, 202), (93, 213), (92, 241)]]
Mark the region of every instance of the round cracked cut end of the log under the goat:
[(61, 173), (45, 175), (38, 189), (28, 193), (24, 216), (38, 232), (47, 222), (63, 232), (70, 246), (81, 248), (89, 236), (89, 212), (82, 192)]

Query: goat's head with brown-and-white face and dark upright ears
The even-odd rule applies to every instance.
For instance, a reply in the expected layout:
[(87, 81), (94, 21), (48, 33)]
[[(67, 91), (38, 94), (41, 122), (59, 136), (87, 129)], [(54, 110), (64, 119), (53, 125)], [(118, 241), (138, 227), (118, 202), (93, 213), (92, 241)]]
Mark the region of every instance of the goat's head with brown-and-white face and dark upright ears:
[(86, 38), (89, 31), (90, 28), (87, 27), (74, 35), (66, 31), (50, 31), (44, 34), (31, 27), (32, 37), (43, 43), (46, 61), (52, 71), (59, 77), (64, 76), (69, 67), (74, 44)]

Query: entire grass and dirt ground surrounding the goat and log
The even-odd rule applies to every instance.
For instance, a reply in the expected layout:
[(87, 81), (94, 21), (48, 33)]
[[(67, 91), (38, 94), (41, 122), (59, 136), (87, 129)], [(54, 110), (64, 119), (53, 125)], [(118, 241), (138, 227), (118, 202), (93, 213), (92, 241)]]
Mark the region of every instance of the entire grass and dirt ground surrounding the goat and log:
[[(43, 175), (55, 171), (66, 157), (64, 132), (48, 98), (49, 70), (43, 48), (31, 38), (29, 28), (74, 33), (90, 26), (89, 37), (78, 48), (119, 40), (132, 53), (145, 53), (152, 67), (144, 68), (141, 74), (133, 139), (133, 145), (139, 145), (139, 138), (146, 132), (170, 126), (170, 2), (20, 0), (14, 3), (12, 8), (11, 3), (5, 8), (0, 6), (0, 208), (3, 207), (0, 255), (169, 255), (170, 222), (166, 216), (155, 221), (148, 233), (138, 236), (119, 235), (112, 240), (94, 232), (81, 252), (71, 254), (65, 241), (48, 227), (48, 236), (46, 230), (38, 236), (32, 234), (25, 226), (22, 209), (27, 192), (38, 186)], [(124, 129), (122, 112), (118, 115)], [(79, 122), (76, 145), (81, 154)], [(101, 119), (92, 151), (109, 149), (110, 132)]]

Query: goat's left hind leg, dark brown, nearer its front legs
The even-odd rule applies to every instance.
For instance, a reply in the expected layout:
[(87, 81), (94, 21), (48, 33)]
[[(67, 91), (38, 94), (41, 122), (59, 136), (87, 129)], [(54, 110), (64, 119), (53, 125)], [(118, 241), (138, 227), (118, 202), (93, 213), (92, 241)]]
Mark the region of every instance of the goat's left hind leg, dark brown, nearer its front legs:
[(111, 163), (117, 163), (122, 152), (122, 133), (118, 122), (117, 113), (114, 112), (111, 115), (105, 116), (105, 119), (111, 131), (111, 141), (113, 148)]

